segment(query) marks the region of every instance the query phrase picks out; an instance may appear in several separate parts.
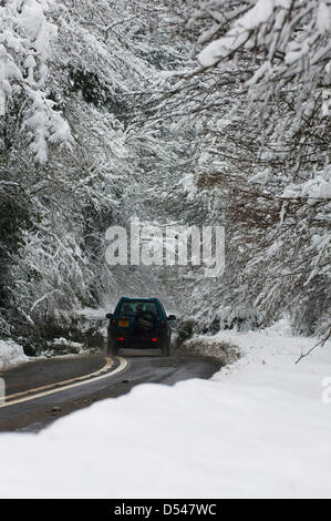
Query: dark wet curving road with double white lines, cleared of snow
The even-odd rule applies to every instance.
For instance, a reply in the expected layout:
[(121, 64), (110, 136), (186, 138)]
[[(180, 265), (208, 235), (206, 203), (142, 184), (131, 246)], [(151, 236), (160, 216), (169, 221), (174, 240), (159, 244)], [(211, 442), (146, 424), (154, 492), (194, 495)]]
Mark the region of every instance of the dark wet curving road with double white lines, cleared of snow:
[(0, 374), (7, 395), (0, 405), (0, 431), (38, 432), (61, 416), (125, 395), (138, 384), (210, 378), (219, 368), (218, 360), (196, 356), (39, 359)]

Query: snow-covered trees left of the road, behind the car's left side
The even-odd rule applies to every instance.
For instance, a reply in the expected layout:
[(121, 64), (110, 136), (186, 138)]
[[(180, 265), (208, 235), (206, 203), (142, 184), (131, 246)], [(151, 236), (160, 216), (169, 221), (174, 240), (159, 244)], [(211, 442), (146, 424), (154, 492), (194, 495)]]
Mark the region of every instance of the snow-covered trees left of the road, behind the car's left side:
[[(19, 227), (20, 247), (2, 286), (2, 316), (18, 333), (31, 325), (41, 331), (54, 318), (70, 321), (105, 295), (112, 302), (125, 288), (151, 287), (151, 274), (110, 269), (104, 233), (113, 223), (126, 225), (134, 207), (143, 216), (139, 193), (157, 165), (175, 162), (173, 143), (159, 144), (167, 141), (161, 127), (138, 121), (137, 100), (147, 100), (157, 71), (177, 60), (176, 44), (158, 34), (166, 3), (155, 9), (154, 2), (127, 1), (120, 10), (105, 0), (27, 0), (1, 7), (8, 80), (1, 178), (19, 183), (32, 221)], [(21, 42), (17, 51), (9, 37)], [(8, 241), (3, 236), (4, 247)]]

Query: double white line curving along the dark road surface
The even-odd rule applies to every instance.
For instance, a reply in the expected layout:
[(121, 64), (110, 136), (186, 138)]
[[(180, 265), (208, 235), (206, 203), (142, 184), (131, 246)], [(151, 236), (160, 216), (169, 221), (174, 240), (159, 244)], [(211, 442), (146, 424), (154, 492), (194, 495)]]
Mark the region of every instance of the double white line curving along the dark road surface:
[[(74, 387), (84, 386), (86, 384), (93, 384), (94, 381), (102, 380), (104, 378), (108, 378), (110, 376), (116, 375), (117, 372), (123, 371), (125, 367), (127, 366), (127, 360), (125, 360), (125, 358), (121, 356), (117, 356), (116, 358), (117, 360), (120, 360), (120, 365), (114, 370), (111, 370), (111, 371), (108, 370), (114, 365), (114, 359), (106, 358), (106, 364), (101, 369), (99, 369), (97, 371), (91, 372), (90, 375), (85, 375), (85, 376), (77, 377), (77, 378), (72, 378), (71, 380), (60, 381), (56, 384), (51, 384), (49, 386), (39, 387), (37, 389), (29, 389), (27, 391), (17, 392), (15, 395), (10, 395), (6, 397), (6, 400), (17, 397), (17, 396), (35, 392), (32, 396), (24, 396), (24, 398), (18, 398), (11, 401), (6, 401), (4, 403), (0, 403), (0, 409), (3, 407), (10, 407), (17, 403), (22, 403), (24, 401), (35, 400), (37, 398), (43, 398), (44, 396), (54, 395), (56, 392), (62, 392), (68, 389), (73, 389)], [(70, 382), (73, 382), (73, 384), (70, 384)], [(55, 386), (56, 387), (62, 386), (62, 387), (54, 388)], [(49, 389), (50, 387), (53, 387), (53, 388)], [(44, 389), (49, 389), (49, 390), (44, 390)], [(39, 392), (40, 390), (43, 390), (43, 391)]]

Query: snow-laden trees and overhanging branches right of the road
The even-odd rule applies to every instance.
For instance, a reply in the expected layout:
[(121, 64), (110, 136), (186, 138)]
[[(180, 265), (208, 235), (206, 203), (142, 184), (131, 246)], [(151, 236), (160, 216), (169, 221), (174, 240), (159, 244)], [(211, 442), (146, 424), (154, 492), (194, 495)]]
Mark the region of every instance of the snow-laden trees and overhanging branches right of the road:
[(324, 0), (184, 9), (197, 64), (169, 76), (168, 114), (205, 129), (196, 183), (219, 190), (226, 208), (227, 270), (211, 306), (220, 315), (227, 304), (238, 315), (255, 308), (267, 324), (289, 310), (297, 330), (325, 330), (330, 9)]

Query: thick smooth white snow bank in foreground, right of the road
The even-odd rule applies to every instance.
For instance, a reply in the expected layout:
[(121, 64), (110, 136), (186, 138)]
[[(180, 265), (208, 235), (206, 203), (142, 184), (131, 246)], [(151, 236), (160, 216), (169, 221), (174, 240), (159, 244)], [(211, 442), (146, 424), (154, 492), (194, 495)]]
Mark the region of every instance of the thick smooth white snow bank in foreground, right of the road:
[(331, 498), (331, 343), (296, 365), (313, 340), (280, 326), (219, 333), (242, 356), (209, 381), (1, 435), (1, 497)]

